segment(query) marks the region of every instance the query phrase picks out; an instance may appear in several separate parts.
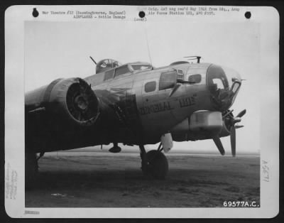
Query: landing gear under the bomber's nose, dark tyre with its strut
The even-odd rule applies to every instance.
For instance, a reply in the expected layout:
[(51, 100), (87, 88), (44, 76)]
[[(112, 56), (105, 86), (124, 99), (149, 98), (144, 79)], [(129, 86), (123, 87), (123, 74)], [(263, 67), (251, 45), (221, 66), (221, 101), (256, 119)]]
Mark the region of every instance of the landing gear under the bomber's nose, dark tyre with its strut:
[(142, 159), (142, 171), (144, 175), (151, 175), (155, 179), (163, 180), (168, 173), (168, 160), (161, 152), (160, 146), (157, 151), (146, 153), (144, 146), (139, 146)]

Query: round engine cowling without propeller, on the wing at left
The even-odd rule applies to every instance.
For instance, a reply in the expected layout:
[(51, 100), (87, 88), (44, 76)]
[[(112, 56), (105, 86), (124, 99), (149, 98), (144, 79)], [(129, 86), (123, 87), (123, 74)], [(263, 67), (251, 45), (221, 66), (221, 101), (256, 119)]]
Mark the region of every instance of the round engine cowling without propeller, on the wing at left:
[(91, 126), (99, 115), (99, 101), (81, 78), (54, 80), (28, 92), (25, 100), (28, 114), (44, 111), (52, 122)]

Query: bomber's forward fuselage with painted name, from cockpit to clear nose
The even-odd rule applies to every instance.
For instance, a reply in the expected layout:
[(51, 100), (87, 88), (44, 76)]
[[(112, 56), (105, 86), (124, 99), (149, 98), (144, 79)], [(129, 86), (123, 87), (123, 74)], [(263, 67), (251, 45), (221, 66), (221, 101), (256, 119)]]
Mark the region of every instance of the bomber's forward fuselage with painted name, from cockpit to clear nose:
[[(132, 68), (138, 65), (145, 65), (146, 69)], [(119, 75), (116, 75), (117, 70)], [(232, 78), (234, 81), (229, 80)], [(116, 104), (114, 110), (117, 112), (108, 114), (108, 117), (114, 123), (122, 119), (120, 122), (124, 125), (117, 125), (115, 135), (117, 141), (126, 143), (131, 143), (131, 138), (136, 138), (134, 135), (137, 134), (143, 136), (137, 137), (142, 138), (143, 143), (157, 143), (161, 134), (174, 129), (193, 112), (226, 111), (234, 102), (241, 85), (241, 78), (236, 72), (226, 73), (222, 67), (210, 63), (188, 62), (159, 68), (134, 62), (97, 73), (85, 80), (105, 107)], [(180, 81), (179, 84), (179, 80), (185, 82)], [(217, 91), (223, 91), (223, 94), (231, 92), (233, 82), (234, 85), (238, 83), (234, 86), (233, 97), (218, 99), (214, 96)], [(121, 128), (124, 130), (121, 131)]]

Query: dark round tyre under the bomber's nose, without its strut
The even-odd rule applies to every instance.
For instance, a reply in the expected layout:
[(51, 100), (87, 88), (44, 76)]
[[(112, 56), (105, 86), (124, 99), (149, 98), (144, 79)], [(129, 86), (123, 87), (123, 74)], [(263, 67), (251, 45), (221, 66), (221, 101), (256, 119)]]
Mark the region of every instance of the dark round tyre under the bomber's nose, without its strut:
[(160, 151), (148, 151), (146, 171), (153, 178), (163, 180), (168, 173), (168, 160)]

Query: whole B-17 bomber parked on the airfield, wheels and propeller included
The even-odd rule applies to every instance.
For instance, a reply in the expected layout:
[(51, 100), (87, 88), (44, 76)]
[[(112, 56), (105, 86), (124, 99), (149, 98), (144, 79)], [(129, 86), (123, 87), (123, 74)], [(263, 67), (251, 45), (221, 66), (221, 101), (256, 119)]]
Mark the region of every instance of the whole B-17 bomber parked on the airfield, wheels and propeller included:
[[(96, 63), (84, 79), (57, 79), (26, 93), (26, 183), (45, 152), (113, 143), (137, 145), (145, 175), (163, 179), (173, 141), (212, 138), (224, 155), (221, 137), (231, 137), (236, 154), (236, 125), (246, 110), (230, 110), (241, 87), (238, 72), (212, 63), (178, 61), (165, 67), (148, 62)], [(95, 62), (95, 61), (94, 61)], [(148, 151), (146, 144), (159, 143)], [(37, 155), (39, 153), (39, 156)]]

